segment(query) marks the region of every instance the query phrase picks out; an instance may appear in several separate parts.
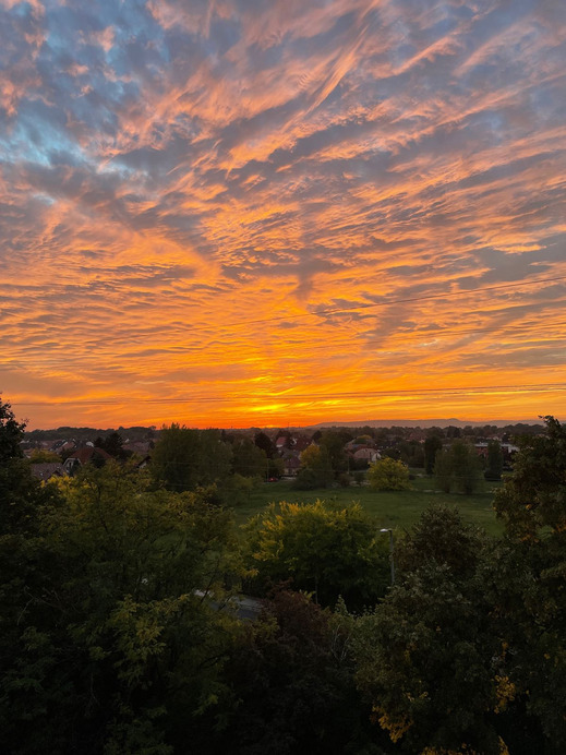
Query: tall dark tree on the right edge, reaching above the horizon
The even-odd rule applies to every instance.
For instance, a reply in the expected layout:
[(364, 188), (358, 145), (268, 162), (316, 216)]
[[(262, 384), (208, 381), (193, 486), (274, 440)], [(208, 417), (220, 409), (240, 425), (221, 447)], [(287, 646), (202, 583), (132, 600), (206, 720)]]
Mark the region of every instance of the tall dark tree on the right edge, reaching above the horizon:
[(519, 440), (514, 472), (495, 495), (506, 539), (484, 584), (506, 633), (517, 718), (534, 719), (544, 752), (559, 753), (566, 748), (564, 705), (556, 704), (566, 699), (566, 429), (551, 416), (544, 422), (544, 435)]

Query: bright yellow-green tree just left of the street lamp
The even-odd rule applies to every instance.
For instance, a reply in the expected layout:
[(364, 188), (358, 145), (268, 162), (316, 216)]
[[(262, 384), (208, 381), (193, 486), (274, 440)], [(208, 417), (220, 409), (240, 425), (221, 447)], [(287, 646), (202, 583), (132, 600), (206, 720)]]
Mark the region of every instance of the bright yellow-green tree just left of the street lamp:
[(323, 501), (272, 505), (244, 527), (246, 564), (255, 589), (291, 578), (323, 606), (342, 596), (354, 609), (374, 602), (388, 584), (387, 543), (359, 504)]

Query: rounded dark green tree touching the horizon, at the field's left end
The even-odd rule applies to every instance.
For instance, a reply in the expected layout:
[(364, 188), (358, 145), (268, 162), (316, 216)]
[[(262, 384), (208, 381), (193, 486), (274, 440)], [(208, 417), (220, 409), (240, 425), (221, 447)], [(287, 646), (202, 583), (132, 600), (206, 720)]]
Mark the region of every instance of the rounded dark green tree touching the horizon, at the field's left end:
[(195, 430), (171, 424), (161, 430), (152, 456), (152, 474), (169, 490), (196, 490), (225, 480), (232, 452), (218, 430)]

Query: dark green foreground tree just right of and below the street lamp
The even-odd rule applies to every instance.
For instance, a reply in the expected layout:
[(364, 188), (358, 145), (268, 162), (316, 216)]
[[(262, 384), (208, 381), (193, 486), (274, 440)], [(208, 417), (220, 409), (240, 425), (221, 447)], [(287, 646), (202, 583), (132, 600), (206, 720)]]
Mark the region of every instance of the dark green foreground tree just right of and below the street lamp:
[(501, 645), (477, 577), (484, 542), (456, 511), (426, 511), (398, 544), (396, 586), (356, 624), (360, 691), (409, 753), (502, 752)]

